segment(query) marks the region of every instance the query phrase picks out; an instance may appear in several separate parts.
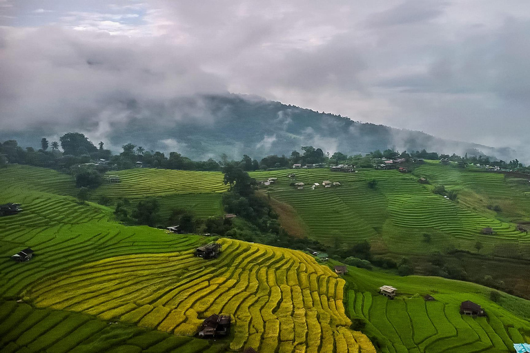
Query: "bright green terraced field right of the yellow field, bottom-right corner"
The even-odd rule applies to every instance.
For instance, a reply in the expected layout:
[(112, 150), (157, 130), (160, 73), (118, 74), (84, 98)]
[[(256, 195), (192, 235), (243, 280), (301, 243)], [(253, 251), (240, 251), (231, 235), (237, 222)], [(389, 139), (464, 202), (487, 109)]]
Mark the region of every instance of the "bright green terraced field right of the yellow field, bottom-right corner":
[[(513, 343), (530, 339), (529, 321), (487, 299), (487, 289), (471, 283), (437, 278), (397, 277), (351, 269), (346, 276), (350, 317), (369, 321), (367, 332), (377, 337), (382, 352), (512, 352)], [(377, 293), (380, 285), (395, 285), (394, 300)], [(424, 301), (431, 294), (435, 301)], [(460, 303), (471, 300), (487, 317), (460, 315)], [(527, 307), (522, 299), (516, 305)], [(502, 301), (501, 301), (502, 304)]]

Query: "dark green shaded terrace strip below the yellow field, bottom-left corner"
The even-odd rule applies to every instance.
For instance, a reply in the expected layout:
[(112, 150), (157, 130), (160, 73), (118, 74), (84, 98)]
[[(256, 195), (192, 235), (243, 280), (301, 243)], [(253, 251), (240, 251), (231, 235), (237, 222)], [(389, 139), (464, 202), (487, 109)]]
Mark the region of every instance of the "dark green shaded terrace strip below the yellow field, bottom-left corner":
[(109, 324), (75, 312), (0, 303), (0, 351), (48, 353), (222, 352), (222, 345), (131, 325)]

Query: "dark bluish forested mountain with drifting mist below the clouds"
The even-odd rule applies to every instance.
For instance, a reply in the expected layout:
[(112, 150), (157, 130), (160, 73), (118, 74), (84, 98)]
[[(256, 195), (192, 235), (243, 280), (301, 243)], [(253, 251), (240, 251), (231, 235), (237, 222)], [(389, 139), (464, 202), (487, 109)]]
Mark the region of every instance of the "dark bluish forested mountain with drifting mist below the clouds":
[[(169, 103), (122, 102), (124, 119), (108, 124), (106, 136), (84, 130), (90, 139), (103, 139), (119, 149), (126, 143), (142, 145), (146, 150), (177, 151), (191, 159), (230, 158), (248, 154), (253, 158), (269, 154), (290, 154), (303, 145), (314, 145), (324, 152), (357, 154), (396, 148), (435, 150), (445, 154), (486, 154), (499, 159), (515, 158), (509, 148), (489, 148), (474, 143), (447, 141), (423, 132), (399, 130), (384, 125), (360, 123), (333, 114), (315, 112), (293, 105), (266, 101), (237, 94), (205, 95), (173, 99)], [(30, 132), (0, 132), (0, 140), (17, 139), (31, 145), (43, 136), (61, 135), (39, 129)], [(32, 141), (25, 141), (28, 138)], [(117, 151), (115, 151), (117, 152)]]

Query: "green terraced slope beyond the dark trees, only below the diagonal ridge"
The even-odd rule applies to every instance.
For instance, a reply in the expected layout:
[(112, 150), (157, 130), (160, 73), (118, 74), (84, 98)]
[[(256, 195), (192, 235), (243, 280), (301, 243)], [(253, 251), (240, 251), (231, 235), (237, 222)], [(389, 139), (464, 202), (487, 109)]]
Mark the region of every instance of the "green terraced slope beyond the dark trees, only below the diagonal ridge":
[[(287, 175), (291, 172), (295, 172), (297, 182), (306, 184), (304, 190), (289, 186)], [(342, 243), (357, 243), (381, 236), (391, 251), (424, 252), (424, 232), (433, 233), (433, 245), (451, 239), (458, 248), (467, 250), (473, 250), (477, 240), (487, 244), (485, 251), (488, 244), (500, 240), (530, 243), (530, 236), (516, 230), (515, 224), (435, 195), (419, 184), (417, 177), (395, 170), (278, 170), (253, 172), (251, 176), (258, 180), (277, 177), (268, 193), (292, 205), (308, 226), (308, 236), (328, 245), (333, 245), (336, 237)], [(377, 180), (375, 190), (367, 185), (371, 179)], [(324, 180), (339, 181), (341, 186), (308, 188)], [(494, 238), (482, 236), (480, 231), (487, 227), (496, 232)]]

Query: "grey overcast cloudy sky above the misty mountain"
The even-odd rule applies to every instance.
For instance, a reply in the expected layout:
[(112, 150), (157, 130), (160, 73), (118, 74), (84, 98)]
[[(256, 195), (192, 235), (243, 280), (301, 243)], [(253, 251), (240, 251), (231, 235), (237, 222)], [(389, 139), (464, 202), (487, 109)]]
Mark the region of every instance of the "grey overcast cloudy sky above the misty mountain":
[(0, 130), (204, 92), (522, 150), (530, 2), (0, 0)]

